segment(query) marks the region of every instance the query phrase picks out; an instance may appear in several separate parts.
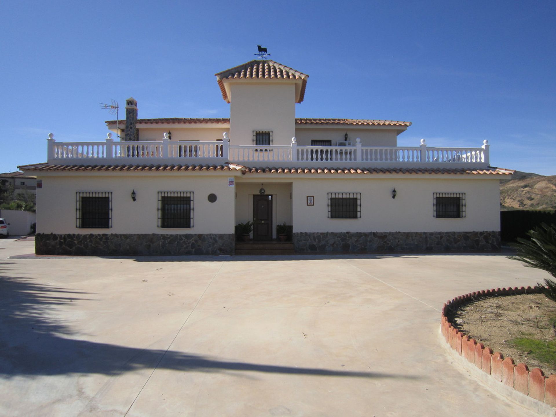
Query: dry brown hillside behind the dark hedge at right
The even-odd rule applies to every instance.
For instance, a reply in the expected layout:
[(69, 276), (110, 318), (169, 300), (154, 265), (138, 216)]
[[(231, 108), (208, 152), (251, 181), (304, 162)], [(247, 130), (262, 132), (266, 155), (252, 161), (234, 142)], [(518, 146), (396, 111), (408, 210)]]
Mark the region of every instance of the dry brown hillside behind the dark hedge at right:
[(556, 210), (556, 175), (515, 171), (513, 177), (500, 181), (501, 210)]

